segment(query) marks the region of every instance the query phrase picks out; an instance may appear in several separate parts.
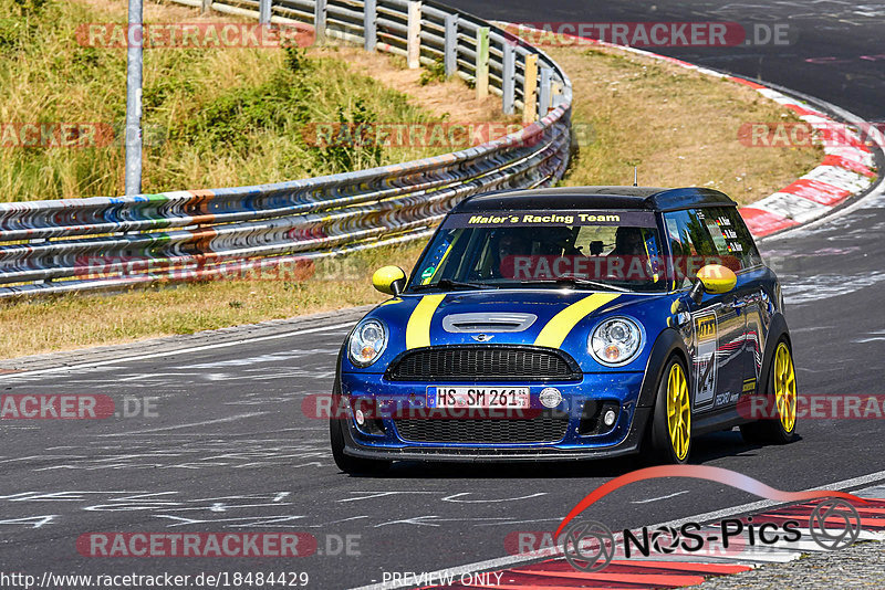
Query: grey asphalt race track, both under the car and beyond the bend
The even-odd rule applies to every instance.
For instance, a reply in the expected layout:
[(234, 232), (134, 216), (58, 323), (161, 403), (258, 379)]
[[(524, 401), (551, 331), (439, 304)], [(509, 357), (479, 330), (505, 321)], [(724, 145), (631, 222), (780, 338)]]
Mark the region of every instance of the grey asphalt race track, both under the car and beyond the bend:
[[(485, 18), (539, 20), (537, 2), (454, 2)], [(798, 7), (801, 4), (802, 9)], [(876, 35), (885, 8), (852, 2), (689, 1), (649, 13), (635, 1), (548, 1), (544, 20), (733, 20), (800, 27), (779, 51), (663, 51), (820, 96), (885, 118)], [(741, 7), (756, 7), (753, 9)], [(839, 66), (809, 62), (835, 56)], [(843, 67), (844, 65), (844, 67)], [(580, 97), (579, 97), (580, 98)], [(871, 197), (818, 226), (763, 242), (784, 283), (800, 391), (885, 394), (885, 197)], [(152, 415), (2, 421), (0, 570), (56, 573), (306, 571), (309, 588), (352, 588), (384, 572), (434, 571), (507, 555), (520, 530), (550, 530), (591, 489), (638, 466), (488, 467), (397, 465), (385, 477), (337, 471), (324, 422), (301, 400), (327, 393), (350, 323), (237, 346), (181, 350), (100, 366), (0, 376), (3, 393), (152, 398)], [(291, 334), (289, 334), (291, 333)], [(155, 414), (155, 415), (154, 415)], [(885, 471), (881, 420), (806, 420), (787, 446), (748, 446), (737, 431), (696, 441), (693, 462), (736, 470), (781, 489), (824, 487)], [(885, 478), (885, 473), (882, 474)], [(639, 526), (757, 499), (711, 483), (670, 480), (621, 489), (594, 508), (612, 528)], [(317, 555), (287, 560), (86, 558), (75, 541), (97, 531), (304, 531)], [(350, 538), (351, 550), (342, 550)], [(345, 555), (350, 552), (350, 555)], [(322, 555), (320, 555), (322, 554)], [(330, 555), (332, 554), (332, 555)]]

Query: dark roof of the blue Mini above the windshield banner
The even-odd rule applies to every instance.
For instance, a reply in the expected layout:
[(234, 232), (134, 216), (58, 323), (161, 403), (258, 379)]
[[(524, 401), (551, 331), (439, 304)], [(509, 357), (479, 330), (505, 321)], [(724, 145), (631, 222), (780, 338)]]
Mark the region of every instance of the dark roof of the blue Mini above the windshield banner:
[(487, 192), (461, 201), (454, 212), (537, 209), (638, 209), (675, 211), (701, 207), (736, 207), (726, 193), (697, 187), (563, 187)]

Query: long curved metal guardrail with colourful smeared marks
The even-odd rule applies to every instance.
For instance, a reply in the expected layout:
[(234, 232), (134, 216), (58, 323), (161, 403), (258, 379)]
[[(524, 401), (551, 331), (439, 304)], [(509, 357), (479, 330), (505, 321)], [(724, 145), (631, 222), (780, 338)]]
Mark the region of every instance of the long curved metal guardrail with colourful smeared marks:
[[(436, 2), (174, 0), (337, 39), (501, 96), (528, 124), (454, 154), (306, 180), (121, 198), (0, 203), (0, 298), (294, 272), (319, 257), (430, 235), (461, 199), (546, 186), (571, 148), (572, 86), (543, 52)], [(535, 65), (537, 64), (537, 65)], [(528, 73), (528, 75), (527, 75)], [(528, 105), (528, 109), (525, 108)]]

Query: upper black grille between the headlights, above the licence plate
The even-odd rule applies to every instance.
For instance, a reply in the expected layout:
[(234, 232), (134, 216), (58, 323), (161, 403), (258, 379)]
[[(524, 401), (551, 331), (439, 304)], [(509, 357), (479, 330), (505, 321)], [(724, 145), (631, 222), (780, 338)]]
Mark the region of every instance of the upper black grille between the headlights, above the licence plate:
[(458, 346), (412, 350), (387, 371), (393, 381), (574, 381), (573, 360), (532, 347)]

